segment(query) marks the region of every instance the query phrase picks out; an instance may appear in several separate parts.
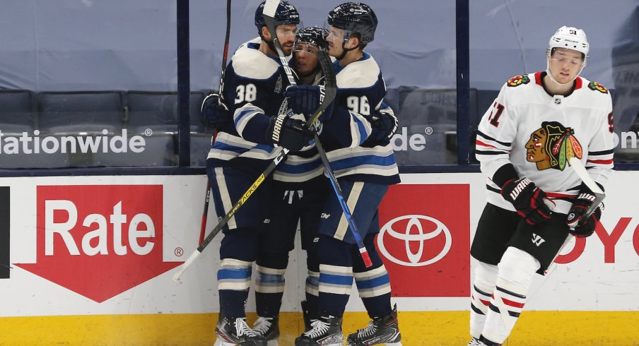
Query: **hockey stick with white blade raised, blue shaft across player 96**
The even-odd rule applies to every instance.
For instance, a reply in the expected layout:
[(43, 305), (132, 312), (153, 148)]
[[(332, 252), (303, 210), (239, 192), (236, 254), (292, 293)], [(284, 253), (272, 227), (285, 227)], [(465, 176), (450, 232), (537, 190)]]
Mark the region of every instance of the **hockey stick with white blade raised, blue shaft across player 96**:
[[(286, 78), (288, 78), (288, 83), (291, 83), (291, 85), (297, 85), (297, 83), (295, 82), (295, 78), (293, 78), (293, 72), (291, 71), (291, 67), (288, 66), (288, 59), (286, 59), (286, 56), (284, 56), (284, 52), (282, 52), (282, 47), (279, 42), (279, 39), (277, 38), (277, 33), (275, 31), (274, 18), (275, 18), (275, 13), (277, 11), (277, 6), (279, 6), (279, 3), (280, 3), (279, 0), (266, 0), (266, 3), (264, 4), (264, 11), (263, 11), (264, 23), (266, 23), (266, 28), (269, 29), (269, 33), (271, 34), (271, 40), (273, 40), (273, 45), (275, 47), (275, 50), (277, 51), (277, 55), (279, 56), (279, 59), (282, 63), (284, 71), (286, 72)], [(320, 52), (317, 52), (317, 54), (320, 54)], [(332, 73), (332, 78), (335, 78), (334, 75), (335, 73)], [(329, 76), (327, 74), (324, 74), (324, 78), (327, 78), (328, 80)], [(357, 246), (359, 248), (360, 255), (362, 256), (364, 264), (367, 268), (370, 266), (373, 266), (373, 263), (370, 261), (370, 256), (368, 256), (368, 251), (366, 251), (366, 247), (364, 246), (364, 242), (362, 241), (362, 237), (360, 237), (357, 226), (355, 225), (355, 221), (353, 221), (353, 215), (351, 213), (351, 210), (348, 208), (346, 201), (344, 201), (344, 193), (342, 193), (341, 188), (339, 187), (339, 183), (337, 182), (337, 179), (335, 178), (335, 175), (333, 174), (329, 160), (326, 157), (326, 152), (324, 151), (324, 148), (322, 148), (322, 144), (320, 143), (320, 138), (318, 138), (317, 136), (317, 132), (315, 133), (315, 147), (317, 148), (317, 152), (320, 153), (320, 157), (322, 158), (322, 163), (324, 164), (324, 170), (326, 170), (327, 174), (329, 175), (329, 179), (331, 180), (331, 184), (333, 186), (337, 199), (339, 200), (339, 205), (341, 206), (341, 210), (344, 212), (344, 216), (346, 216), (346, 220), (348, 220), (348, 228), (351, 229), (353, 237), (355, 238), (357, 242)]]

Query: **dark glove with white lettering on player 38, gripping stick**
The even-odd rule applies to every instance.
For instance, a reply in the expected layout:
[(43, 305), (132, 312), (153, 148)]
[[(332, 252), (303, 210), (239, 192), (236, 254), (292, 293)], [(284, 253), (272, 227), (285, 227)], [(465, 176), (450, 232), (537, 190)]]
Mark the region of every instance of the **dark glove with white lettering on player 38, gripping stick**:
[(284, 147), (295, 153), (304, 148), (313, 139), (313, 131), (304, 127), (304, 122), (292, 119), (286, 114), (271, 117), (266, 129), (266, 141)]

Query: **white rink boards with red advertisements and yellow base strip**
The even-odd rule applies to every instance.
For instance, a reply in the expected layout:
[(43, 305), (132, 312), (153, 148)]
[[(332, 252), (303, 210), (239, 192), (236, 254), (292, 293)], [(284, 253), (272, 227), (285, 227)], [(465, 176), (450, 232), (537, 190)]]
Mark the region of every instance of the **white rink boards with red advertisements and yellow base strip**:
[[(638, 178), (614, 174), (602, 225), (535, 278), (508, 345), (639, 340), (639, 186), (627, 184)], [(468, 251), (484, 178), (404, 174), (402, 181), (380, 208), (377, 247), (404, 345), (465, 345)], [(210, 345), (221, 237), (182, 282), (170, 280), (197, 247), (205, 186), (204, 176), (0, 178), (0, 207), (10, 215), (0, 225), (10, 236), (0, 241), (0, 345)], [(207, 229), (215, 220), (211, 205)], [(286, 273), (282, 345), (300, 332), (304, 266), (305, 253), (296, 249)], [(351, 298), (346, 331), (367, 322), (355, 289)], [(247, 311), (255, 311), (252, 294)]]

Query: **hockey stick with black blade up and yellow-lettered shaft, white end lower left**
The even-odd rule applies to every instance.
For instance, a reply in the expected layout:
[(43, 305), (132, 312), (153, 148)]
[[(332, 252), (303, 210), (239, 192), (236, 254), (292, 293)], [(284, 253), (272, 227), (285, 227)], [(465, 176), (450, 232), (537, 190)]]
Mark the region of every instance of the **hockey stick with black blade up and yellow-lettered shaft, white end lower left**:
[[(304, 124), (306, 129), (310, 129), (310, 126), (312, 126), (312, 124), (315, 123), (317, 119), (320, 119), (322, 112), (324, 112), (324, 109), (326, 109), (331, 104), (331, 102), (333, 102), (333, 100), (335, 99), (335, 95), (337, 93), (335, 71), (333, 70), (331, 58), (328, 56), (326, 52), (320, 51), (320, 52), (317, 52), (317, 59), (318, 61), (320, 61), (320, 67), (322, 68), (322, 73), (324, 73), (324, 76), (326, 76), (326, 85), (324, 86), (324, 90), (325, 90), (324, 97), (323, 98), (320, 97), (320, 102), (322, 102), (320, 104), (320, 107), (317, 108), (317, 110), (312, 115), (312, 117), (310, 117), (310, 119), (308, 119)], [(286, 148), (282, 148), (282, 150), (279, 151), (279, 153), (273, 159), (273, 161), (271, 161), (269, 166), (266, 167), (266, 169), (264, 169), (264, 172), (262, 172), (262, 174), (259, 174), (259, 177), (257, 177), (257, 179), (249, 187), (249, 189), (247, 189), (244, 195), (242, 195), (242, 197), (240, 198), (240, 201), (237, 201), (233, 205), (233, 207), (228, 211), (228, 213), (224, 215), (222, 220), (218, 222), (218, 225), (216, 225), (216, 227), (213, 228), (211, 233), (209, 233), (209, 235), (207, 235), (206, 238), (204, 238), (204, 241), (202, 241), (202, 244), (200, 244), (200, 246), (198, 246), (198, 248), (195, 249), (193, 253), (191, 253), (191, 256), (187, 258), (187, 261), (182, 263), (182, 268), (180, 268), (180, 270), (178, 270), (177, 273), (175, 273), (172, 277), (175, 282), (180, 281), (180, 276), (182, 276), (182, 273), (184, 273), (184, 271), (187, 270), (189, 266), (191, 266), (191, 263), (195, 261), (195, 258), (197, 258), (200, 255), (200, 253), (204, 251), (206, 246), (209, 245), (209, 243), (213, 240), (216, 234), (218, 234), (221, 231), (221, 229), (226, 225), (228, 220), (230, 220), (230, 218), (233, 217), (233, 215), (235, 215), (235, 213), (238, 212), (238, 210), (242, 207), (242, 205), (244, 205), (244, 203), (248, 200), (248, 198), (252, 196), (255, 190), (257, 190), (257, 188), (262, 184), (264, 179), (266, 179), (266, 177), (268, 177), (275, 170), (275, 167), (279, 165), (279, 163), (286, 157), (287, 154), (288, 154), (288, 149)]]

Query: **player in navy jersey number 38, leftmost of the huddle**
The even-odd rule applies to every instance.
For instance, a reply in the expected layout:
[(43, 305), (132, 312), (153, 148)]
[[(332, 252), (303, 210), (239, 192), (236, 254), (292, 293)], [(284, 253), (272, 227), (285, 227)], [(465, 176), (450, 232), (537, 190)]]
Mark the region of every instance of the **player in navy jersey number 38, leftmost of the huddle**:
[[(303, 120), (288, 117), (286, 109), (281, 109), (288, 80), (266, 29), (263, 8), (264, 3), (255, 12), (260, 37), (242, 44), (226, 68), (222, 95), (232, 121), (218, 124), (218, 136), (206, 160), (217, 215), (228, 213), (276, 157), (281, 149), (274, 145), (295, 153), (312, 139), (312, 132), (302, 126)], [(282, 1), (274, 22), (284, 54), (291, 54), (300, 23), (298, 11)], [(245, 302), (259, 232), (269, 222), (270, 186), (271, 179), (266, 177), (224, 230), (217, 272), (221, 317), (216, 328), (223, 346), (266, 345), (264, 338), (247, 326)]]

